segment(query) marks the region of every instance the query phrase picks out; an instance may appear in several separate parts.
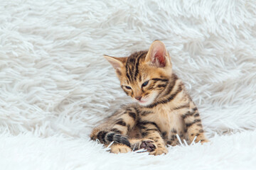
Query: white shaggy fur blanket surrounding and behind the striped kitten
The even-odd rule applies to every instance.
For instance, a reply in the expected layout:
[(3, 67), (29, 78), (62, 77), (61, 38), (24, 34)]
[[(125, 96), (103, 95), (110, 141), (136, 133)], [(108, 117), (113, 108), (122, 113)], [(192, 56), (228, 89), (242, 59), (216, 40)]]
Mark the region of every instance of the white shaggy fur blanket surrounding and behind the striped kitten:
[[(210, 143), (110, 154), (89, 134), (129, 102), (103, 54), (162, 40)], [(0, 169), (255, 169), (255, 1), (1, 1)]]

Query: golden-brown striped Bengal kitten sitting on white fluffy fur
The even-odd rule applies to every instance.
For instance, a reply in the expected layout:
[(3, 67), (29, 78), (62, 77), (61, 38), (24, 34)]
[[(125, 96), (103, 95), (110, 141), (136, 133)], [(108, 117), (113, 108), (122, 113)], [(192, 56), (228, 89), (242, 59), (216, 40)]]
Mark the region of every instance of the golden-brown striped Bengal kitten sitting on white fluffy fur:
[(166, 145), (181, 141), (208, 142), (201, 118), (181, 79), (173, 73), (171, 57), (163, 42), (156, 40), (149, 51), (129, 57), (105, 58), (116, 70), (124, 92), (136, 103), (125, 106), (92, 130), (92, 140), (110, 146), (113, 153), (146, 149), (166, 154)]

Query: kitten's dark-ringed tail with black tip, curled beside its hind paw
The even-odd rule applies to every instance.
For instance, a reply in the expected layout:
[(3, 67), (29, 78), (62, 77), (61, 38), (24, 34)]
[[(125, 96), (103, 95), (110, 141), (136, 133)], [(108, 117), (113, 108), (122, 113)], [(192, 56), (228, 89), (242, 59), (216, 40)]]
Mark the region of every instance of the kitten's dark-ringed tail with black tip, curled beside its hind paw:
[(101, 143), (104, 144), (110, 144), (111, 142), (114, 141), (114, 143), (119, 143), (123, 145), (127, 145), (128, 147), (131, 147), (131, 144), (128, 140), (127, 136), (124, 136), (122, 134), (119, 134), (117, 132), (107, 132), (105, 130), (93, 130), (96, 132), (92, 132), (90, 135), (92, 140), (100, 140)]

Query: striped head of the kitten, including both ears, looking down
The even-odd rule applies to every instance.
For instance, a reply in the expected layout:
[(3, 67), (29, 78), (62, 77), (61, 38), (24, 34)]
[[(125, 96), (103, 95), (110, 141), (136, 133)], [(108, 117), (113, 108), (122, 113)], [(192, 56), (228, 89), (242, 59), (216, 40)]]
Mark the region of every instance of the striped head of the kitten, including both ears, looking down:
[(171, 79), (171, 57), (163, 42), (156, 40), (148, 51), (129, 57), (105, 58), (116, 70), (124, 92), (142, 106), (156, 102)]

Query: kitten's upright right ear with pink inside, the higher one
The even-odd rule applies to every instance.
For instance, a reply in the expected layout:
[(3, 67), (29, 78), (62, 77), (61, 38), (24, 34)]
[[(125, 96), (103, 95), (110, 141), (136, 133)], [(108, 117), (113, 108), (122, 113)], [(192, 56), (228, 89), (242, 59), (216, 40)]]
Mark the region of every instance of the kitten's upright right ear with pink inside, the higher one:
[(146, 62), (156, 67), (166, 67), (167, 64), (171, 63), (163, 42), (159, 40), (152, 42), (149, 47), (149, 52), (146, 54)]

